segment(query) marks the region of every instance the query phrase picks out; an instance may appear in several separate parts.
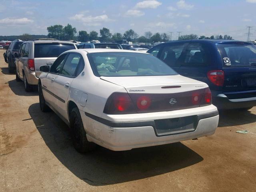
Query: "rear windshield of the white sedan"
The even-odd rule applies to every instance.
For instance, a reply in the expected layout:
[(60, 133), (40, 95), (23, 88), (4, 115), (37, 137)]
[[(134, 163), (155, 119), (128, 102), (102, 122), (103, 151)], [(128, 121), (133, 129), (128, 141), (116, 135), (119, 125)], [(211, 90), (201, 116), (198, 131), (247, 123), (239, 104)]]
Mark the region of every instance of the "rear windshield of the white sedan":
[(177, 73), (158, 58), (143, 53), (89, 53), (88, 59), (96, 76), (162, 76)]

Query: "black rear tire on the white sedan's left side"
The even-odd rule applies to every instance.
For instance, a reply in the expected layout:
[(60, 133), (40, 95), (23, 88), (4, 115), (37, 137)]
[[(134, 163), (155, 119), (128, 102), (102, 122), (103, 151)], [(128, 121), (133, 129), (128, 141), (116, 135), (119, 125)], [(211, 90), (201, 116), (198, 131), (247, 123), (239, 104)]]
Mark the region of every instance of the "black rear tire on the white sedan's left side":
[(70, 128), (72, 131), (73, 144), (80, 153), (90, 152), (95, 149), (96, 144), (88, 142), (86, 132), (78, 108), (73, 108), (70, 114)]

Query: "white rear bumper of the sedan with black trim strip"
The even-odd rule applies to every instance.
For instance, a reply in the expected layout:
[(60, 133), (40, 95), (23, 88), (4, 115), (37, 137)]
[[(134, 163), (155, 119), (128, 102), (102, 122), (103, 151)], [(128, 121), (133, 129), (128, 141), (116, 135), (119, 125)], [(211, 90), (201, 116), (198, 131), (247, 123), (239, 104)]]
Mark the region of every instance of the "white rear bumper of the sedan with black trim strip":
[(155, 120), (112, 122), (81, 111), (88, 141), (114, 151), (169, 144), (214, 134), (218, 111), (198, 114), (194, 131), (158, 136)]

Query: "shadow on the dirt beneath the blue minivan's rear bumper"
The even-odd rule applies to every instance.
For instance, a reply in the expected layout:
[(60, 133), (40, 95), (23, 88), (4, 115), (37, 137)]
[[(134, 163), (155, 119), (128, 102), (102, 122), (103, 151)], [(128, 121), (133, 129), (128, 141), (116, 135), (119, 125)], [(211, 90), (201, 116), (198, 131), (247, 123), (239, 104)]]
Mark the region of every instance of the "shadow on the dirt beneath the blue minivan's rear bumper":
[(238, 126), (256, 122), (256, 114), (250, 110), (233, 109), (220, 112), (218, 127)]

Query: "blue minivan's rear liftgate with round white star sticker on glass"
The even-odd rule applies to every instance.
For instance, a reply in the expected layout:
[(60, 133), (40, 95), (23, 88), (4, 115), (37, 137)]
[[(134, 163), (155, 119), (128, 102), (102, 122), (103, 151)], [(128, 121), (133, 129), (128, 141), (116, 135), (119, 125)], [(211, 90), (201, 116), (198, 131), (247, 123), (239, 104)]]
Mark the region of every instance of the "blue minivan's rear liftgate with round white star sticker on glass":
[(256, 90), (256, 46), (241, 42), (217, 48), (225, 72), (224, 91)]

